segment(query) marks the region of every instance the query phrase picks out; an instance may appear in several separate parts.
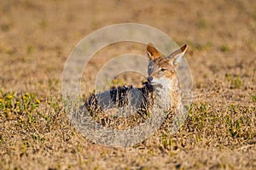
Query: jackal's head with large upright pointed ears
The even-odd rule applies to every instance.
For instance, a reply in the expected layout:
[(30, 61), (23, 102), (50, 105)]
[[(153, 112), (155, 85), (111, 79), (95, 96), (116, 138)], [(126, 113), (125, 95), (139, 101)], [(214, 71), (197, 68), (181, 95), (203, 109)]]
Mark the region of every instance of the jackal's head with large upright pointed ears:
[(187, 45), (177, 49), (169, 56), (164, 56), (149, 43), (147, 47), (148, 58), (148, 82), (155, 87), (175, 88), (178, 86), (177, 64), (187, 50)]

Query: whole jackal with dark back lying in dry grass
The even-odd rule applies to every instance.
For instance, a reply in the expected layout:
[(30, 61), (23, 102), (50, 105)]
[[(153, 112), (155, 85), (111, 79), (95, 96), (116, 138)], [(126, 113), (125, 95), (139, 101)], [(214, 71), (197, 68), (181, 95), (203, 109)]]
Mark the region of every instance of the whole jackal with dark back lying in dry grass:
[(181, 103), (181, 90), (177, 77), (177, 63), (186, 50), (185, 44), (166, 57), (149, 43), (147, 46), (148, 81), (143, 83), (143, 88), (122, 86), (111, 88), (101, 94), (92, 94), (86, 99), (84, 107), (90, 112), (90, 116), (93, 116), (96, 112), (138, 104), (135, 108), (141, 115), (148, 112), (154, 99), (158, 98), (161, 100), (160, 104), (166, 105), (166, 108), (178, 109)]

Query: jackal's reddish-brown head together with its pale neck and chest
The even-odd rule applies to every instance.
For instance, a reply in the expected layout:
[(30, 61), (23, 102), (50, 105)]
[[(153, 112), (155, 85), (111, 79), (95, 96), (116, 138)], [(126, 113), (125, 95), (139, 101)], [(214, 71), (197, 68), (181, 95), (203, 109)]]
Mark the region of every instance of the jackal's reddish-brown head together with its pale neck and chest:
[(154, 87), (154, 95), (169, 103), (170, 107), (178, 108), (180, 106), (180, 84), (177, 77), (177, 63), (187, 50), (187, 45), (177, 49), (169, 56), (163, 54), (148, 44), (148, 82)]

